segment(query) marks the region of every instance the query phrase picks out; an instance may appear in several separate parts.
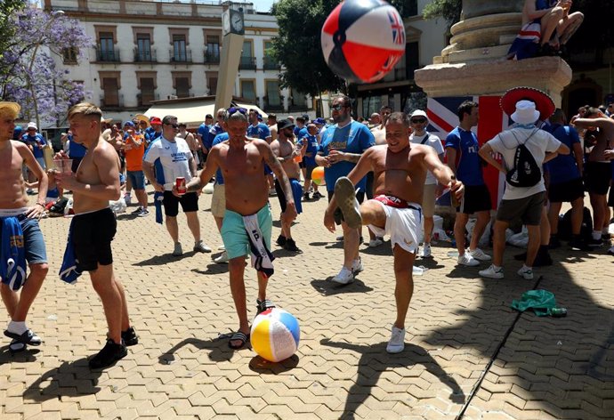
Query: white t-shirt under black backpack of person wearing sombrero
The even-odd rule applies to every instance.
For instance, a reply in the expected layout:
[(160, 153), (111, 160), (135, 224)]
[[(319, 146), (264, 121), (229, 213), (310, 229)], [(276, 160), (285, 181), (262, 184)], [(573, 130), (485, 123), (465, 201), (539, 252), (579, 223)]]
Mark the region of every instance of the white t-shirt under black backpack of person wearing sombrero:
[[(531, 133), (533, 134), (531, 135)], [(515, 138), (514, 135), (516, 136)], [(528, 138), (529, 140), (527, 140)], [(505, 132), (499, 133), (493, 137), (488, 143), (494, 151), (501, 154), (503, 157), (503, 166), (507, 170), (513, 168), (513, 157), (516, 154), (516, 147), (522, 143), (529, 149), (538, 166), (544, 164), (546, 151), (553, 152), (561, 146), (561, 141), (556, 140), (551, 133), (547, 133), (538, 128), (521, 127), (505, 130)], [(505, 182), (503, 199), (515, 200), (518, 198), (525, 198), (542, 191), (545, 191), (543, 169), (541, 181), (537, 182), (537, 184), (532, 187), (514, 187)]]

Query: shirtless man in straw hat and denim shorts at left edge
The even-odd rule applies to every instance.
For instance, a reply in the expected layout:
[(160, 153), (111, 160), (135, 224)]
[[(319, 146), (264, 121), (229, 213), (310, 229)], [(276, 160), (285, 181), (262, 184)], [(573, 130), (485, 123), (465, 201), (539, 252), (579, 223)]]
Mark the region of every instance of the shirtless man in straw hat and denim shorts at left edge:
[[(9, 350), (23, 351), (28, 344), (40, 345), (41, 338), (26, 325), (28, 311), (47, 275), (47, 251), (38, 219), (44, 214), (47, 175), (21, 141), (12, 141), (15, 119), (20, 106), (0, 102), (0, 292), (11, 321), (4, 335), (12, 338)], [(38, 179), (38, 198), (29, 206), (26, 183), (21, 169), (28, 166)], [(7, 246), (8, 245), (8, 246)], [(7, 250), (4, 253), (4, 249)], [(30, 273), (26, 277), (26, 263)], [(21, 293), (17, 291), (21, 288)]]

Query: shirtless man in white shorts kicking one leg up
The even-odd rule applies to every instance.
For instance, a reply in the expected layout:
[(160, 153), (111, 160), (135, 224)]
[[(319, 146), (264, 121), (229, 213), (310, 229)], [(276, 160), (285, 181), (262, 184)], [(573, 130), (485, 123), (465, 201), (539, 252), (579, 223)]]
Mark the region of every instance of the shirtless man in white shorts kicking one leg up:
[[(389, 353), (405, 347), (405, 318), (414, 291), (412, 269), (418, 236), (421, 230), (422, 202), (426, 171), (437, 181), (448, 185), (457, 198), (463, 196), (462, 182), (453, 182), (453, 173), (441, 163), (434, 149), (422, 144), (410, 144), (410, 122), (406, 114), (394, 112), (386, 126), (386, 144), (368, 149), (347, 178), (335, 183), (335, 195), (324, 214), (324, 225), (335, 231), (335, 207), (352, 228), (368, 225), (376, 235), (391, 235), (397, 318), (392, 325), (392, 338), (386, 347)], [(374, 199), (359, 206), (354, 184), (368, 171), (374, 172)]]

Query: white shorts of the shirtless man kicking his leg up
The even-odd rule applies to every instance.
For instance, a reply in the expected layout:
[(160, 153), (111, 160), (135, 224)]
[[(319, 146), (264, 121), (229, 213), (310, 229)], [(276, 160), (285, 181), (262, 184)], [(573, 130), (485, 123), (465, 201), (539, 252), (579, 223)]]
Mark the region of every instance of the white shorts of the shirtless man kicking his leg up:
[(408, 253), (416, 254), (419, 244), (419, 235), (422, 231), (422, 208), (416, 203), (409, 203), (415, 208), (396, 208), (386, 206), (377, 201), (386, 214), (386, 227), (384, 229), (370, 224), (368, 227), (378, 237), (390, 235), (392, 249), (399, 246)]

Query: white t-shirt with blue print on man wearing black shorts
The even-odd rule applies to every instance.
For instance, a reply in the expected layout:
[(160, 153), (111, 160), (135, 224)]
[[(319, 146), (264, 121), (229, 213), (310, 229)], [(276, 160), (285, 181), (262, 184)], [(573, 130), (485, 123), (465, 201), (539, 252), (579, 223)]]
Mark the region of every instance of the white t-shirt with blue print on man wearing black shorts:
[(176, 178), (183, 177), (185, 182), (192, 179), (190, 173), (192, 152), (188, 143), (181, 137), (175, 137), (174, 142), (167, 141), (164, 137), (160, 137), (158, 140), (151, 142), (143, 160), (152, 164), (160, 158), (160, 163), (164, 169), (164, 189), (170, 191), (173, 190)]

